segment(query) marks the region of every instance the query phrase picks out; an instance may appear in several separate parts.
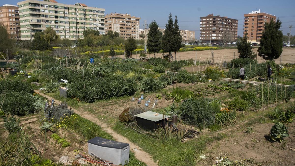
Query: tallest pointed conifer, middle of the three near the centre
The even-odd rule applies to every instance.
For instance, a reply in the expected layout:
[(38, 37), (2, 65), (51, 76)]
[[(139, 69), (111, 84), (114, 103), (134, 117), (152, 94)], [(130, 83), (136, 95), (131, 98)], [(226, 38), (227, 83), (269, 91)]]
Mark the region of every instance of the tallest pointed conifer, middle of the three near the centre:
[(162, 38), (162, 49), (164, 52), (169, 52), (170, 57), (172, 56), (171, 52), (174, 51), (173, 32), (174, 32), (173, 19), (172, 19), (172, 14), (170, 13), (168, 16), (168, 22), (166, 23), (166, 26), (165, 26), (164, 35)]

